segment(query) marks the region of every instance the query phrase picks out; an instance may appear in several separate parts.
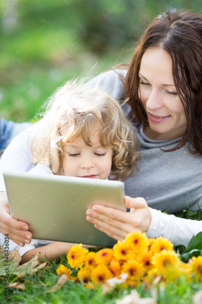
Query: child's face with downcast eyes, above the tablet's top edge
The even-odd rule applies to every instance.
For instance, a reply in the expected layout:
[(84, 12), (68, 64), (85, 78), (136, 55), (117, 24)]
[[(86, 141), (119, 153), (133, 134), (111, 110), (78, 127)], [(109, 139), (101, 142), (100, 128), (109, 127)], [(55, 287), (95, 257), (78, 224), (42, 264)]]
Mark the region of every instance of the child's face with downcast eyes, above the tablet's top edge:
[(106, 179), (111, 171), (113, 150), (100, 146), (98, 134), (91, 137), (92, 147), (85, 145), (81, 137), (64, 148), (63, 169), (66, 176)]

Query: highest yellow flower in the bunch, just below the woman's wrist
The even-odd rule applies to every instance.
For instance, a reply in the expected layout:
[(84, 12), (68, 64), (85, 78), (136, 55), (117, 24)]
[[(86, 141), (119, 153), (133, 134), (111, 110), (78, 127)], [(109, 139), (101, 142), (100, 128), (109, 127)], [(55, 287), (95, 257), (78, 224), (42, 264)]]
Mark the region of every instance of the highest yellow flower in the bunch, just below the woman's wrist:
[(148, 238), (145, 232), (134, 231), (127, 235), (125, 242), (131, 249), (131, 258), (137, 257), (142, 254), (143, 251), (148, 250)]

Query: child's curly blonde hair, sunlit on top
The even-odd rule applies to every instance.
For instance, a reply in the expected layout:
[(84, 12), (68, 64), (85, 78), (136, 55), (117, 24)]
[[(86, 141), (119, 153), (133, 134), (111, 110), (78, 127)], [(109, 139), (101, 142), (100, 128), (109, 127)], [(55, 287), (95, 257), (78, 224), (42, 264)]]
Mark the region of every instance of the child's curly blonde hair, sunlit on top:
[(80, 136), (91, 146), (91, 135), (98, 131), (101, 146), (113, 150), (111, 179), (125, 181), (137, 172), (140, 154), (133, 125), (118, 101), (100, 87), (89, 88), (83, 78), (66, 82), (51, 97), (43, 120), (44, 128), (31, 135), (35, 164), (49, 165), (54, 174), (64, 174), (65, 143)]

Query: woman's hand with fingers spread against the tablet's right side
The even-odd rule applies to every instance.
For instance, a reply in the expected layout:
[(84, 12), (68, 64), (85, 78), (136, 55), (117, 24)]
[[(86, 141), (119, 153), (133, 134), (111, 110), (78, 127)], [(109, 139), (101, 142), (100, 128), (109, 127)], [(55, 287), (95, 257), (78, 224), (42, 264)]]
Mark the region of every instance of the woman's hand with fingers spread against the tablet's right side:
[(131, 208), (130, 212), (94, 205), (86, 211), (86, 219), (115, 240), (124, 240), (127, 233), (135, 230), (146, 232), (151, 223), (151, 212), (145, 199), (125, 196), (124, 203), (127, 208)]

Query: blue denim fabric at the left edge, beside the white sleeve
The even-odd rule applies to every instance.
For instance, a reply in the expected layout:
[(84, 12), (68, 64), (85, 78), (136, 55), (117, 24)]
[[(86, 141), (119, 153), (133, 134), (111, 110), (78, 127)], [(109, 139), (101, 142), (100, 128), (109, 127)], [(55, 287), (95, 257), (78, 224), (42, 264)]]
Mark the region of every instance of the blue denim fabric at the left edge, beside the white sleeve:
[(0, 150), (5, 149), (10, 143), (11, 134), (17, 124), (3, 118), (0, 119)]

